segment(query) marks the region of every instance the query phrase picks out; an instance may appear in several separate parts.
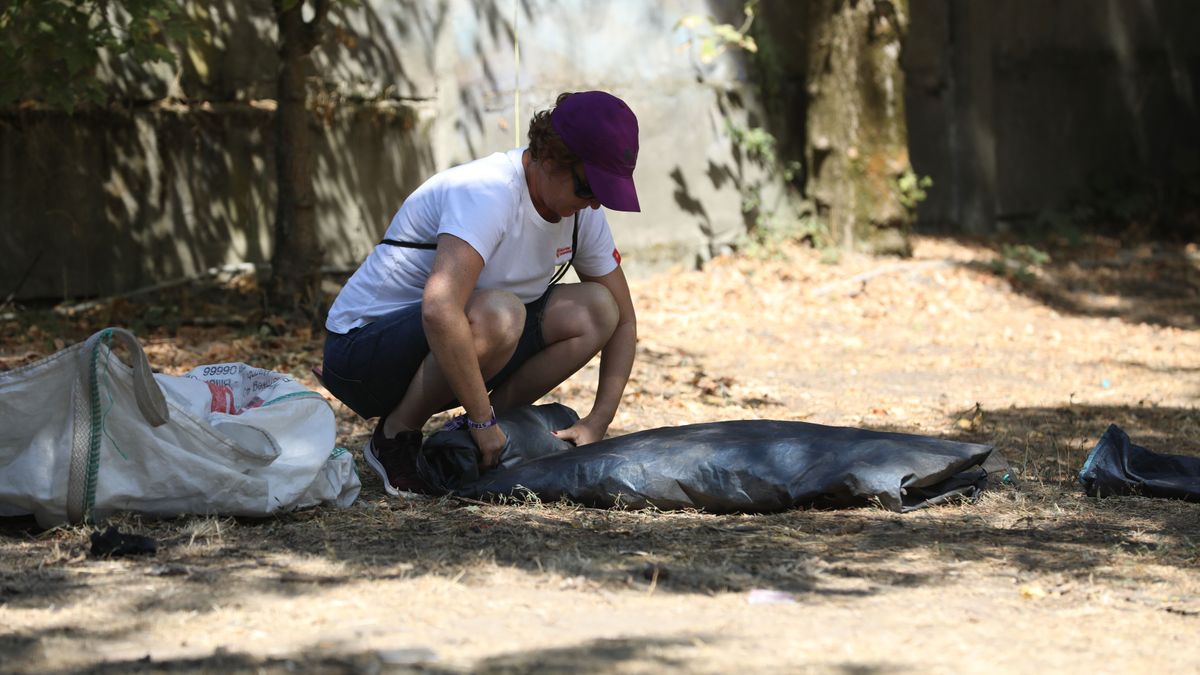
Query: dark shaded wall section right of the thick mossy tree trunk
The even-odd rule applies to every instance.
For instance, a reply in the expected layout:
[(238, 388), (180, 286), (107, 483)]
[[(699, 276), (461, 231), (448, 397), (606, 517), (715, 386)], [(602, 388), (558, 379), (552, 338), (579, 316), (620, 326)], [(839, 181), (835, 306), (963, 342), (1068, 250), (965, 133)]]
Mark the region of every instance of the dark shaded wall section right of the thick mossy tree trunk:
[(968, 233), (1200, 174), (1200, 2), (910, 0), (926, 226)]

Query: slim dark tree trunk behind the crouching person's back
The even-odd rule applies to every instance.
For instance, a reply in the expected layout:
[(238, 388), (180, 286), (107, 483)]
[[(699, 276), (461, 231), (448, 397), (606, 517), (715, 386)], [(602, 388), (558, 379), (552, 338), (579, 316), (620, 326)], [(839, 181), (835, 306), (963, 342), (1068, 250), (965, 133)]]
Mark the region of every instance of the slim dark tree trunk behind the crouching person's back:
[[(290, 5), (290, 8), (283, 7)], [(278, 108), (275, 113), (275, 162), (278, 197), (275, 209), (275, 250), (268, 298), (280, 310), (316, 316), (320, 303), (324, 251), (317, 235), (317, 197), (312, 185), (312, 135), (307, 107), (307, 74), (312, 50), (328, 12), (317, 0), (313, 17), (304, 20), (305, 1), (275, 0), (280, 30)]]

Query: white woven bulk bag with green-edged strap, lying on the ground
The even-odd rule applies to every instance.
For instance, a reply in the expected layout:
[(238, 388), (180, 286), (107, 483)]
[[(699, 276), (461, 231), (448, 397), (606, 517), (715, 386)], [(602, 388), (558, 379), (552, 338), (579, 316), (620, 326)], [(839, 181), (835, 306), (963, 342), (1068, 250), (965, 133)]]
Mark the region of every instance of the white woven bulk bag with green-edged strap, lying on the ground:
[(119, 510), (346, 507), (360, 483), (335, 435), (329, 402), (287, 376), (245, 364), (154, 375), (132, 333), (106, 328), (0, 372), (0, 515), (34, 514), (49, 527)]

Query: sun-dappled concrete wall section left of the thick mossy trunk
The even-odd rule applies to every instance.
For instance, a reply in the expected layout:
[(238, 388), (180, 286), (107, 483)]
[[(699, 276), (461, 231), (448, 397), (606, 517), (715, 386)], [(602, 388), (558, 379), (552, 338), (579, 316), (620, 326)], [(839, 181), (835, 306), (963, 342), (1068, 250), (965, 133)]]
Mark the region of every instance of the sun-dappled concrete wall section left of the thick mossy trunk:
[[(697, 258), (744, 231), (725, 133), (754, 98), (738, 55), (700, 65), (676, 22), (703, 0), (366, 0), (338, 8), (313, 73), (326, 262), (353, 267), (404, 197), (449, 166), (521, 143), (559, 91), (607, 89), (638, 114), (643, 211), (611, 214), (626, 270)], [(108, 64), (112, 109), (0, 119), (0, 294), (110, 294), (265, 262), (277, 56), (268, 0), (194, 2), (209, 35), (175, 67)], [(520, 44), (520, 64), (514, 43)], [(745, 109), (721, 110), (719, 92)], [(516, 119), (514, 119), (516, 118)]]

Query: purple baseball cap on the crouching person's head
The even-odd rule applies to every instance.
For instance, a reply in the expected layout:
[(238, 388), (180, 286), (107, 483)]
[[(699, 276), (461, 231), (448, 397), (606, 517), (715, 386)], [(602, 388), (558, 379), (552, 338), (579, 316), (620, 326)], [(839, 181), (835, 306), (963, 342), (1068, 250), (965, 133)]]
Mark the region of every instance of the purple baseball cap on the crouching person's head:
[(604, 91), (578, 91), (550, 113), (550, 124), (583, 162), (588, 185), (602, 205), (642, 210), (634, 189), (637, 118), (624, 101)]

